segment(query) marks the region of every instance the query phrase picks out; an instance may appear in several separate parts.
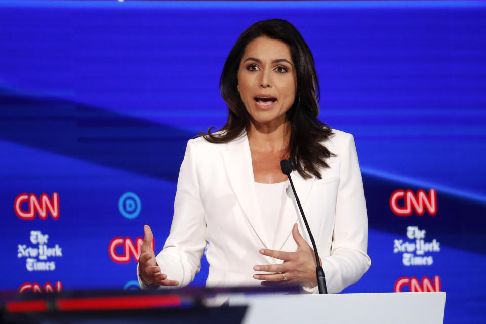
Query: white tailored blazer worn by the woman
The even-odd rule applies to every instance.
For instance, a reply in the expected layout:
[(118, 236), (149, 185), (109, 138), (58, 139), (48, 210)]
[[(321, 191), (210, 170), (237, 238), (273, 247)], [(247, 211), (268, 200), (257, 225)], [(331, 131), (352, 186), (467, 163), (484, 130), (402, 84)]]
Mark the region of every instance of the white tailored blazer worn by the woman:
[[(322, 169), (322, 179), (291, 176), (316, 241), (329, 293), (353, 284), (368, 270), (368, 220), (354, 138), (333, 130), (325, 142), (336, 154)], [(276, 207), (279, 208), (279, 207)], [(261, 248), (295, 251), (294, 223), (310, 244), (292, 188), (274, 242), (264, 231), (246, 134), (226, 144), (204, 138), (187, 143), (174, 201), (171, 231), (156, 261), (167, 278), (181, 287), (194, 279), (207, 242), (207, 287), (260, 285), (253, 266), (281, 263), (259, 253)], [(138, 271), (138, 269), (137, 269)], [(140, 286), (147, 286), (140, 280)], [(315, 292), (316, 287), (304, 287)]]

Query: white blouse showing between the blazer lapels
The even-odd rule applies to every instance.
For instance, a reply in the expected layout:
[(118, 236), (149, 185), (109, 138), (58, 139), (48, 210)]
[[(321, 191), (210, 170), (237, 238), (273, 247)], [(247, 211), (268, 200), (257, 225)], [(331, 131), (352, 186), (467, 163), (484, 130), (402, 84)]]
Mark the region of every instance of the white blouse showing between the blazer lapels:
[(277, 225), (281, 221), (284, 202), (286, 199), (286, 189), (289, 180), (279, 183), (260, 183), (255, 182), (258, 206), (260, 207), (263, 228), (271, 244), (271, 249), (275, 245), (275, 233)]

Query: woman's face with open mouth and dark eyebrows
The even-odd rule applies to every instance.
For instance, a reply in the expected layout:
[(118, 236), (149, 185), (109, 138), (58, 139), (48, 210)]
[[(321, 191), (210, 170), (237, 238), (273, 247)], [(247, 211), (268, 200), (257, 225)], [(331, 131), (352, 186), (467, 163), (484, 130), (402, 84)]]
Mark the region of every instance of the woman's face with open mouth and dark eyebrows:
[(253, 123), (284, 123), (296, 90), (297, 76), (289, 45), (266, 36), (247, 45), (239, 64), (238, 91)]

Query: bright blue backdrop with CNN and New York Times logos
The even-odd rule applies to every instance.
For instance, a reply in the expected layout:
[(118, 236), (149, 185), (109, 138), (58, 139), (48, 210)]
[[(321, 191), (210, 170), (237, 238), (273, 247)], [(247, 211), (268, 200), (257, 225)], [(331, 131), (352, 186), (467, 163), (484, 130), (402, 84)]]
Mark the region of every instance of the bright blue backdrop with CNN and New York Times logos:
[(311, 48), (320, 119), (355, 136), (372, 266), (344, 292), (442, 290), (446, 323), (484, 321), (486, 3), (469, 1), (0, 2), (1, 290), (138, 286), (143, 224), (161, 249), (185, 143), (226, 119), (226, 55), (269, 18)]

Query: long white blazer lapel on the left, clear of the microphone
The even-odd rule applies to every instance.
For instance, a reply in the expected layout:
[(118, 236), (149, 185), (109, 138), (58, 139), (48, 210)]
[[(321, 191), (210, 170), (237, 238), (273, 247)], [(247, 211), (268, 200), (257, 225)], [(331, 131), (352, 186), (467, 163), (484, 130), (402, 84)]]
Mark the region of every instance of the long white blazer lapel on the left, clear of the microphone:
[(238, 203), (250, 222), (253, 230), (265, 248), (269, 242), (258, 205), (253, 175), (252, 155), (246, 133), (226, 144), (226, 151), (221, 151), (231, 188)]

